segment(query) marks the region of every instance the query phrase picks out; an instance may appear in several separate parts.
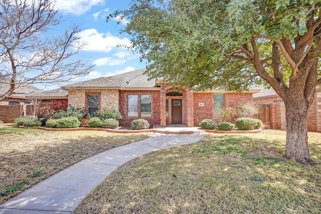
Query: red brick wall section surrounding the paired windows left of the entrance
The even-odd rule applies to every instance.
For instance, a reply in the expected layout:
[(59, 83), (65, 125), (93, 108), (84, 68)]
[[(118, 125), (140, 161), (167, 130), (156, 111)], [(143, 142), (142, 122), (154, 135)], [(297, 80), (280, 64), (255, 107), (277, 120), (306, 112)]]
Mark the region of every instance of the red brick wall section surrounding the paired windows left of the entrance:
[[(128, 117), (127, 115), (127, 95), (138, 95), (138, 117)], [(151, 117), (140, 117), (140, 95), (151, 95)], [(122, 119), (120, 126), (130, 126), (135, 119), (144, 119), (150, 126), (161, 124), (161, 102), (158, 90), (121, 90), (119, 91), (119, 111)]]

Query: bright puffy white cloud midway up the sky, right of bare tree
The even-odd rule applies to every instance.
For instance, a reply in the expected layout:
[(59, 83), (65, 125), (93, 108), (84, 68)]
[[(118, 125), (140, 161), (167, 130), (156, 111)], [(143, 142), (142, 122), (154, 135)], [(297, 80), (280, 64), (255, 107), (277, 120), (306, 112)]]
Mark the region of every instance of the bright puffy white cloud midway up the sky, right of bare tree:
[(82, 49), (84, 51), (110, 52), (117, 45), (131, 46), (130, 40), (127, 38), (119, 39), (108, 33), (98, 33), (96, 29), (86, 29), (79, 32), (76, 36), (80, 42), (87, 45)]

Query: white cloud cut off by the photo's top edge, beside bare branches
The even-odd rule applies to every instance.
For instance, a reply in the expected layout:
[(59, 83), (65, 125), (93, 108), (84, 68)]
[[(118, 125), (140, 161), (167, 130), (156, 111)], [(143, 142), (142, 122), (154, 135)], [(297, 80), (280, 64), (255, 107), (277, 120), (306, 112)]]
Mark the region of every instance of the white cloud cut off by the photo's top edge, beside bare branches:
[(96, 5), (103, 5), (106, 0), (56, 0), (55, 9), (62, 13), (82, 15)]

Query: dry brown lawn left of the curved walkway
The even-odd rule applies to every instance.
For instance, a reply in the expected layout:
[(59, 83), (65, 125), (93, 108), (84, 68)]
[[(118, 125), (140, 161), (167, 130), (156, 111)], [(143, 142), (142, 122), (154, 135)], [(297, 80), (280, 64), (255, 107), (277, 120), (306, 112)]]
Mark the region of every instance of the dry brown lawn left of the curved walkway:
[(152, 133), (55, 131), (0, 127), (0, 203), (85, 158)]

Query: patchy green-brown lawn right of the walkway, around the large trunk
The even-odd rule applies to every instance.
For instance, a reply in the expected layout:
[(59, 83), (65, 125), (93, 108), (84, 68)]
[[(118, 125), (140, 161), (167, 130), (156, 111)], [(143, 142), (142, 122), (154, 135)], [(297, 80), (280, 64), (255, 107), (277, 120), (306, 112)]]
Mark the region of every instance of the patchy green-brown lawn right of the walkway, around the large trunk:
[(285, 132), (206, 134), (113, 171), (74, 213), (320, 213), (321, 133), (314, 167), (282, 157)]

